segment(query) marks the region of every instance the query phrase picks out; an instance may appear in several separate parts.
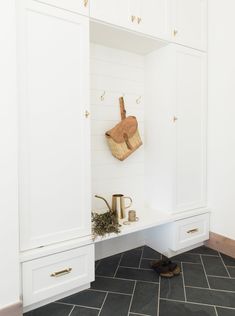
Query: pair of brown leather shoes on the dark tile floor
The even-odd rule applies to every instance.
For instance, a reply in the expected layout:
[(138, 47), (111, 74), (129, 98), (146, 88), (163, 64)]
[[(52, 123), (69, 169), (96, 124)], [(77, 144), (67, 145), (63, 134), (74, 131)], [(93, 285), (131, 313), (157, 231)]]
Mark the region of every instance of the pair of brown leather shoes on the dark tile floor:
[(151, 268), (163, 278), (172, 278), (180, 274), (181, 270), (177, 263), (169, 259), (154, 261)]

